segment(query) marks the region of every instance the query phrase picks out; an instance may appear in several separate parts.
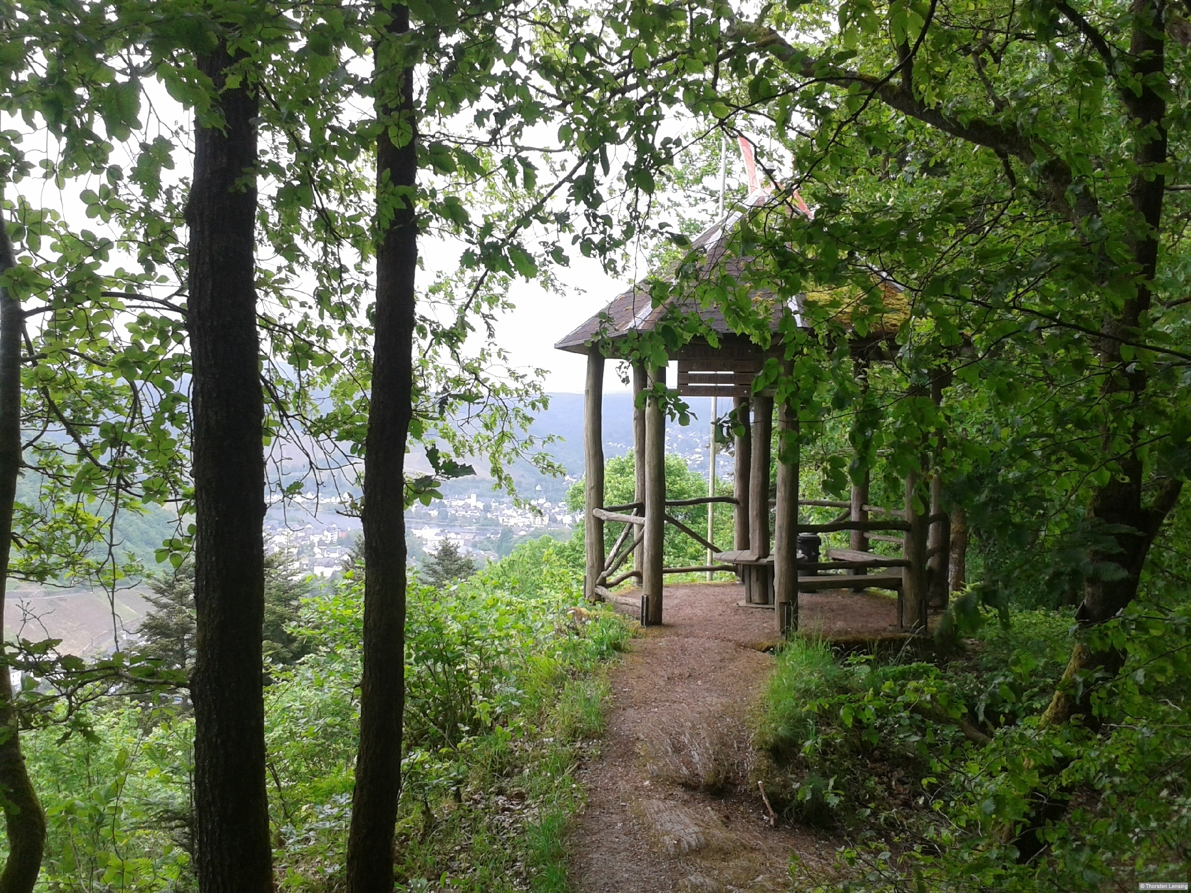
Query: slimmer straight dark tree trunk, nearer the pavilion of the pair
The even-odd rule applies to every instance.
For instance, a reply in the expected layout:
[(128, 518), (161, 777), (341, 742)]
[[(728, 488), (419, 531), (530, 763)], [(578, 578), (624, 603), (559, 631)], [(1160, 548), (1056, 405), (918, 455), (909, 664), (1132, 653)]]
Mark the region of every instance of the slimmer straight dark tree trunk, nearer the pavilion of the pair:
[[(348, 889), (392, 893), (393, 832), (401, 791), (405, 708), (405, 443), (413, 414), (418, 173), (413, 69), (395, 46), (410, 12), (384, 15), (376, 48), (376, 308), (368, 436), (364, 442), (364, 633), (360, 749), (348, 835)], [(394, 142), (389, 132), (400, 136)]]

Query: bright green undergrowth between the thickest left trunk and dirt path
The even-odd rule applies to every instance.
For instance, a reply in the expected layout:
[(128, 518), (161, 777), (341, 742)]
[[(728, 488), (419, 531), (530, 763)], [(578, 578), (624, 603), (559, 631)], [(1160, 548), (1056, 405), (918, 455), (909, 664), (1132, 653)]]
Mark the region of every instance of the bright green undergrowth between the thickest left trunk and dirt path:
[[(467, 860), (474, 870), (466, 888), (507, 888), (516, 861), (532, 864), (540, 849), (545, 850), (542, 876), (554, 864), (560, 818), (578, 795), (568, 742), (591, 737), (601, 723), (604, 688), (575, 674), (592, 673), (626, 636), (610, 613), (576, 607), (576, 586), (575, 573), (543, 537), (445, 593), (411, 587), (399, 824), (404, 879), (438, 878), (463, 833), (470, 835)], [(288, 814), (285, 857), (295, 888), (314, 883), (322, 876), (316, 868), (329, 860), (339, 864), (343, 856), (361, 597), (360, 585), (349, 580), (333, 595), (306, 602), (304, 636), (314, 650), (268, 694), (269, 716), (276, 718), (270, 758), (286, 792), (276, 807)], [(541, 738), (547, 730), (549, 742)], [(543, 804), (525, 837), (510, 841), (509, 829), (486, 812), (497, 797), (518, 804), (516, 810), (557, 801)]]

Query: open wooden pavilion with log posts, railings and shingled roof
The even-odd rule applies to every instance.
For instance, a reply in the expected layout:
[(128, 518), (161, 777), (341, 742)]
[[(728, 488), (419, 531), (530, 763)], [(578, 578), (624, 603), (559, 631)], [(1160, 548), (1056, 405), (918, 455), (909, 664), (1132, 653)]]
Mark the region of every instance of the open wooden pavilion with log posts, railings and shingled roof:
[[(743, 213), (771, 201), (765, 192), (746, 199)], [(709, 227), (692, 248), (704, 252), (703, 269), (719, 266), (738, 274), (748, 258), (725, 257), (729, 236), (742, 212), (730, 213)], [(890, 283), (878, 282), (881, 288)], [(746, 601), (752, 605), (772, 605), (774, 625), (779, 635), (798, 627), (798, 593), (829, 589), (854, 591), (863, 587), (893, 589), (898, 593), (898, 626), (910, 631), (925, 627), (928, 601), (946, 604), (947, 560), (949, 554), (949, 516), (941, 511), (941, 486), (937, 475), (931, 480), (930, 513), (915, 511), (915, 491), (918, 481), (906, 481), (905, 505), (892, 510), (867, 505), (868, 486), (853, 487), (848, 502), (799, 499), (799, 464), (797, 451), (793, 462), (779, 462), (774, 499), (771, 499), (769, 467), (773, 442), (774, 410), (777, 424), (791, 429), (798, 424), (797, 407), (790, 404), (774, 406), (773, 389), (757, 388), (756, 377), (769, 357), (781, 358), (779, 324), (793, 317), (804, 326), (804, 311), (809, 296), (796, 295), (781, 300), (768, 294), (754, 294), (754, 302), (762, 314), (768, 311), (772, 345), (761, 348), (748, 337), (732, 331), (723, 314), (715, 308), (697, 306), (693, 301), (671, 299), (654, 307), (650, 296), (641, 288), (631, 288), (616, 296), (599, 313), (555, 344), (587, 356), (585, 389), (585, 514), (586, 545), (585, 593), (588, 599), (603, 600), (610, 589), (636, 577), (641, 583), (641, 623), (662, 623), (663, 586), (666, 574), (705, 570), (734, 570), (744, 583)], [(734, 491), (731, 497), (668, 500), (666, 497), (666, 420), (661, 402), (655, 396), (634, 402), (634, 455), (636, 487), (634, 501), (626, 505), (604, 504), (604, 436), (603, 389), (604, 366), (607, 357), (623, 356), (624, 343), (635, 332), (654, 330), (668, 314), (698, 313), (704, 324), (717, 336), (712, 346), (705, 338), (692, 341), (669, 355), (678, 363), (678, 394), (681, 396), (730, 398), (742, 430), (735, 438)], [(887, 327), (868, 332), (865, 338), (849, 337), (858, 375), (865, 376), (867, 363), (887, 355), (893, 330)], [(632, 363), (634, 395), (654, 391), (666, 382), (666, 366), (647, 369)], [(643, 406), (641, 405), (643, 402)], [(679, 505), (728, 502), (732, 506), (734, 542), (731, 549), (721, 549), (674, 518), (667, 510)], [(772, 518), (771, 518), (771, 506)], [(799, 506), (827, 506), (844, 510), (828, 524), (803, 524)], [(878, 516), (874, 518), (873, 516)], [(771, 523), (772, 522), (772, 523)], [(604, 525), (624, 525), (605, 554)], [(671, 524), (700, 543), (715, 556), (713, 564), (667, 568), (662, 543), (665, 525)], [(771, 530), (772, 527), (772, 530)], [(818, 554), (818, 535), (850, 531), (848, 549), (830, 549)], [(899, 557), (886, 557), (871, 551), (873, 539), (897, 542)], [(632, 556), (632, 569), (621, 567)], [(823, 560), (825, 558), (825, 560)]]

